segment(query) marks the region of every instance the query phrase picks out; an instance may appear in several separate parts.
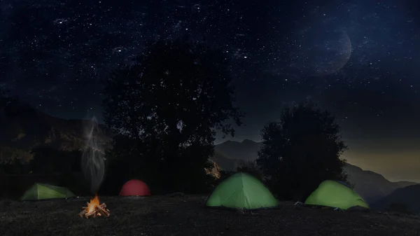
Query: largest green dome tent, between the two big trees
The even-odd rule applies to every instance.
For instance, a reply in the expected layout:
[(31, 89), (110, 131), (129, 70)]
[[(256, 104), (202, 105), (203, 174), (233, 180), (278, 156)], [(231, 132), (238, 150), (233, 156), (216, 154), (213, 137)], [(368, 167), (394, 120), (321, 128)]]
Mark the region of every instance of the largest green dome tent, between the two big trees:
[(260, 209), (277, 207), (279, 202), (261, 181), (245, 173), (228, 177), (213, 190), (206, 202), (207, 207)]

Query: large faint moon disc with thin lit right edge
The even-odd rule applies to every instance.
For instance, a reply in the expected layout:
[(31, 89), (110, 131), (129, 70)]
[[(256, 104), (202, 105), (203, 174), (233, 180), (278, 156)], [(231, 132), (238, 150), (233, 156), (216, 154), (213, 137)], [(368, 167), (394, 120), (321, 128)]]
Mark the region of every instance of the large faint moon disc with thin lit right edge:
[(308, 27), (298, 39), (293, 66), (305, 76), (335, 74), (351, 57), (351, 40), (345, 30)]

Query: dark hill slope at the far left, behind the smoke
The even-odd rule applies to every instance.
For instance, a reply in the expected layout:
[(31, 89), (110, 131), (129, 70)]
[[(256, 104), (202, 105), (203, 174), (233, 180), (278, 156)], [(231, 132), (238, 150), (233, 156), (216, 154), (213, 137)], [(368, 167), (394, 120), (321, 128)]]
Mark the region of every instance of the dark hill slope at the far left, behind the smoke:
[[(29, 151), (40, 145), (69, 151), (83, 148), (85, 127), (90, 125), (90, 120), (55, 118), (17, 101), (1, 103), (0, 161), (7, 162), (13, 158), (30, 160)], [(102, 130), (98, 137), (100, 144), (108, 144), (110, 133), (101, 125), (99, 129)]]

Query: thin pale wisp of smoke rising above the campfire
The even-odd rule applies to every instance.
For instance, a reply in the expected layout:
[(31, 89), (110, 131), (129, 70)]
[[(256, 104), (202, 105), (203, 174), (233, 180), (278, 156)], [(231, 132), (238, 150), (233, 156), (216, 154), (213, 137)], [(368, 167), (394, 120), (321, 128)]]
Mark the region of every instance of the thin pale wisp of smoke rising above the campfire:
[(99, 144), (99, 126), (93, 117), (85, 124), (85, 147), (82, 153), (82, 169), (85, 178), (90, 182), (90, 191), (97, 193), (105, 173), (104, 151)]

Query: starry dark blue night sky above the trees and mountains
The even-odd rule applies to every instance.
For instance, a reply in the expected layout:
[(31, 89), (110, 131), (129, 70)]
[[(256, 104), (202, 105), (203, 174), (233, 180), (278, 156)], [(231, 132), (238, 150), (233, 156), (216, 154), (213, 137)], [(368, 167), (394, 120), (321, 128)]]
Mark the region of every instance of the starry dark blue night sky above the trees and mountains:
[(0, 86), (52, 116), (101, 120), (101, 79), (146, 42), (188, 34), (232, 59), (247, 113), (235, 140), (259, 141), (307, 99), (335, 114), (349, 162), (420, 181), (417, 2), (3, 0)]

